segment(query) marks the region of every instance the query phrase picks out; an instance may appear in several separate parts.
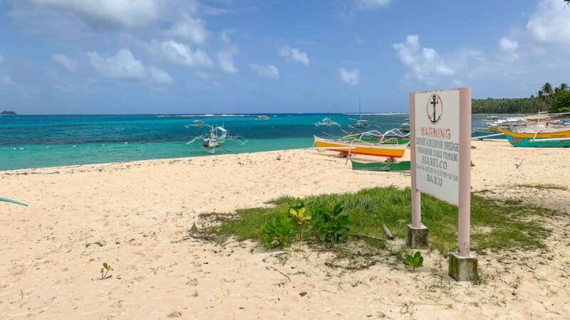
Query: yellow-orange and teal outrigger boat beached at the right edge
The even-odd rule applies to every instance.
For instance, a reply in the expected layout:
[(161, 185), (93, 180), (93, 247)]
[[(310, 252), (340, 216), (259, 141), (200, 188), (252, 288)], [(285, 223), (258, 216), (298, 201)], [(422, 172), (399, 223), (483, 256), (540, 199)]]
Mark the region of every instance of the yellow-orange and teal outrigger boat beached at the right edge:
[(537, 130), (536, 132), (512, 132), (501, 129), (512, 146), (522, 147), (570, 147), (570, 130)]

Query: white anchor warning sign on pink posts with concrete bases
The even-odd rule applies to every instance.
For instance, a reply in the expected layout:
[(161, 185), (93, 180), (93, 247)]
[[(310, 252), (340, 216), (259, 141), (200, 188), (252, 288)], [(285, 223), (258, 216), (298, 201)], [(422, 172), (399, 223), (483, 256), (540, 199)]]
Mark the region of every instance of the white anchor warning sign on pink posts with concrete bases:
[(477, 278), (470, 254), (471, 89), (410, 93), (412, 223), (408, 245), (427, 247), (421, 221), (421, 193), (459, 209), (458, 252), (450, 253), (449, 274), (458, 281)]

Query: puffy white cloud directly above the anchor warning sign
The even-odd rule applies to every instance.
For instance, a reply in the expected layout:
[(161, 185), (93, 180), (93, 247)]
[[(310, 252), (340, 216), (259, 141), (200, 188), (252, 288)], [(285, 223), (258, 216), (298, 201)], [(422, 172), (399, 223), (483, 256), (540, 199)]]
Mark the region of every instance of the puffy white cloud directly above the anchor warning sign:
[(404, 42), (394, 43), (392, 48), (418, 80), (432, 81), (437, 76), (455, 74), (455, 70), (445, 63), (435, 49), (420, 47), (419, 36), (409, 35)]

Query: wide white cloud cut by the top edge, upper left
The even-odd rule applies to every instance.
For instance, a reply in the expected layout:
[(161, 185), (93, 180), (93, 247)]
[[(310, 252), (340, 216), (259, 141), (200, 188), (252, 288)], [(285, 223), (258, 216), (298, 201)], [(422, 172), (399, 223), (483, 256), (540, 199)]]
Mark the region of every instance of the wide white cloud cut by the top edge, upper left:
[(91, 26), (135, 28), (159, 16), (157, 0), (28, 0), (48, 9), (75, 14)]

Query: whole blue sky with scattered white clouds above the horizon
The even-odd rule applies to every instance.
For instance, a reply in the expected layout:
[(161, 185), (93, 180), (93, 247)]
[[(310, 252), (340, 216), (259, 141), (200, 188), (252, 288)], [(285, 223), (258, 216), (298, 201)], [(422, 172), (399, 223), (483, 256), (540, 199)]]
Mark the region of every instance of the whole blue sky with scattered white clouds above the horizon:
[(0, 0), (0, 109), (405, 111), (408, 92), (570, 82), (570, 7), (516, 1)]

